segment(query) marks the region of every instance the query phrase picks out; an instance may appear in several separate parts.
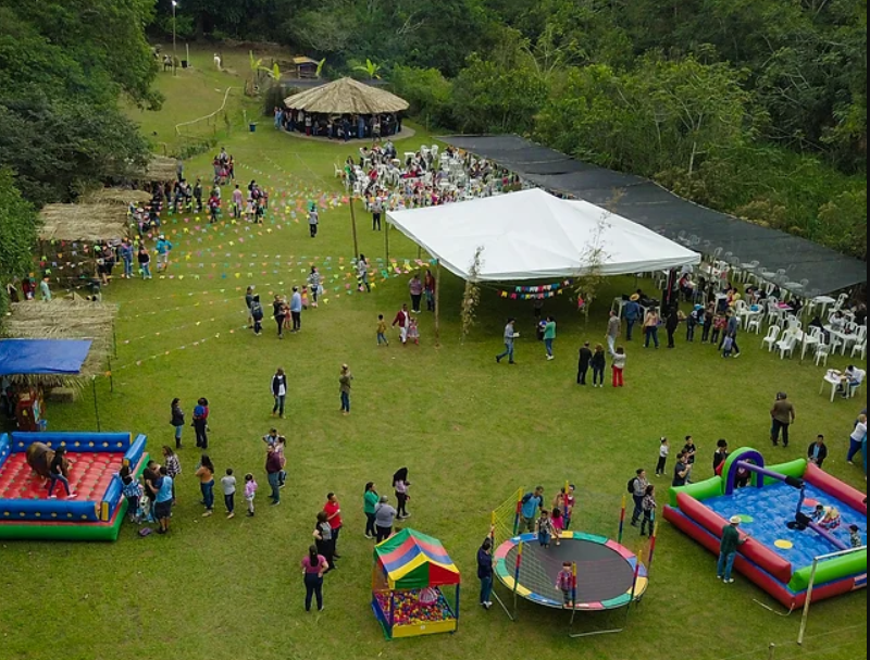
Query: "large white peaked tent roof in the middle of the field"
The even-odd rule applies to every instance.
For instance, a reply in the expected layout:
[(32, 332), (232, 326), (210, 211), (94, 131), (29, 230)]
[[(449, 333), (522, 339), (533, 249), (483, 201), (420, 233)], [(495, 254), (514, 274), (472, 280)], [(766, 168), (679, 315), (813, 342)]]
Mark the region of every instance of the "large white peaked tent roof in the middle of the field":
[[(540, 189), (467, 202), (393, 211), (389, 222), (463, 279), (483, 247), (478, 281), (519, 282), (582, 275), (591, 246), (601, 248), (602, 275), (700, 263), (700, 254), (585, 201)], [(584, 263), (585, 262), (585, 263)]]

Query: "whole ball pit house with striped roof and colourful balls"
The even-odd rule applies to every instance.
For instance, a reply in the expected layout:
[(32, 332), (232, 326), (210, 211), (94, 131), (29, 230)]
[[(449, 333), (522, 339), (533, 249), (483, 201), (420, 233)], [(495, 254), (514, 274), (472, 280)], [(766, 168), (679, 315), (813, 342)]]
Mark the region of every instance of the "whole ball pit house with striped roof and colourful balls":
[(372, 610), (387, 639), (455, 633), (459, 586), (459, 569), (432, 536), (402, 530), (375, 546)]

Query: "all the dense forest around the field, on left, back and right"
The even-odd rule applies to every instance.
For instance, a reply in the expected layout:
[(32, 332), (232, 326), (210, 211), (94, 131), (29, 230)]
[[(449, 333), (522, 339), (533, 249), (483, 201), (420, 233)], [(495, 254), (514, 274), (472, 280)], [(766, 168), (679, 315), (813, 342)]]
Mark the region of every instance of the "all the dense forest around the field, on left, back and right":
[[(172, 25), (171, 0), (0, 0), (0, 279), (34, 206), (146, 157), (119, 101), (160, 107), (148, 37)], [(522, 134), (867, 258), (866, 0), (185, 0), (175, 27), (327, 76), (371, 59), (432, 127)]]

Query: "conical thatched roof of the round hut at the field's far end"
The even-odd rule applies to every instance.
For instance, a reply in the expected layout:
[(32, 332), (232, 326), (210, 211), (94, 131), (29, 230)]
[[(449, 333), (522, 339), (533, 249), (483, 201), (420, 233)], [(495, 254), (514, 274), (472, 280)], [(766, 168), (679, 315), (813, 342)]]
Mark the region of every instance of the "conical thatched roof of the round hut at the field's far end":
[(290, 110), (319, 114), (381, 114), (408, 110), (408, 102), (394, 94), (353, 78), (341, 78), (287, 97)]

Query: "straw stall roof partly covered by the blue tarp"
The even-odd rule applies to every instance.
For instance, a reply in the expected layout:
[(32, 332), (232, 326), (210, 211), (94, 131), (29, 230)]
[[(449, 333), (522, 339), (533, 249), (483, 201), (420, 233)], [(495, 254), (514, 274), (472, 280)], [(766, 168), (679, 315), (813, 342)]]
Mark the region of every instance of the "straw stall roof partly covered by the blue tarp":
[(92, 376), (102, 376), (114, 352), (117, 306), (90, 302), (78, 296), (51, 301), (15, 302), (3, 321), (3, 336), (15, 339), (90, 339), (88, 357), (78, 374), (18, 374), (13, 383), (80, 389)]

